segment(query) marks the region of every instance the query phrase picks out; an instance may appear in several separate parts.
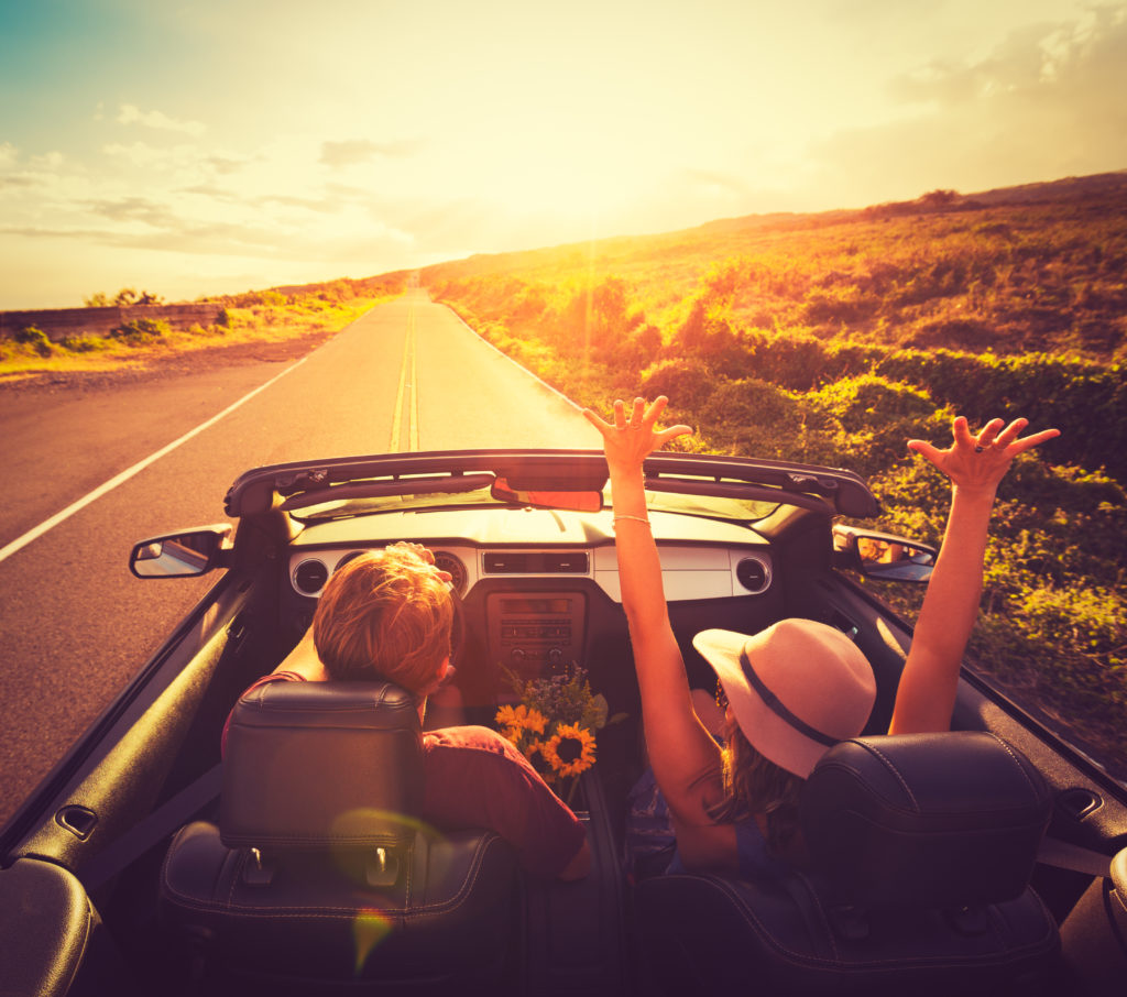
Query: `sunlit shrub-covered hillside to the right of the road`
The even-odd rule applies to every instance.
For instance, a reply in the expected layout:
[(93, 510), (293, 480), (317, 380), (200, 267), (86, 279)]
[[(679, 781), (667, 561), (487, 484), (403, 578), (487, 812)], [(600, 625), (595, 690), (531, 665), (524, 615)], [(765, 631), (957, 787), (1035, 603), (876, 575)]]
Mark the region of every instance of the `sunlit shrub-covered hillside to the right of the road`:
[(694, 445), (860, 471), (881, 526), (933, 543), (947, 489), (907, 438), (943, 439), (956, 412), (1059, 428), (1003, 484), (973, 652), (1127, 777), (1127, 172), (420, 276), (576, 401), (668, 394)]

